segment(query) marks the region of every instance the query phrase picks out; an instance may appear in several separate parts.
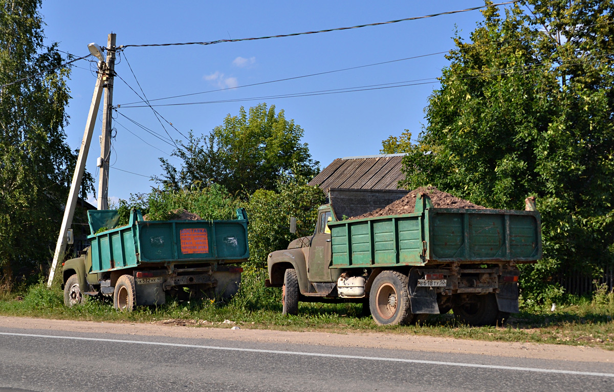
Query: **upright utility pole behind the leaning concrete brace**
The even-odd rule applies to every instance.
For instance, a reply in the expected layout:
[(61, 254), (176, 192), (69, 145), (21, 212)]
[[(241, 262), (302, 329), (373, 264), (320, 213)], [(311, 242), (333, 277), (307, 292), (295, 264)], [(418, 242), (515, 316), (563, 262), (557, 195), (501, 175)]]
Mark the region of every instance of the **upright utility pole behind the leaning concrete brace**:
[(111, 120), (113, 106), (113, 76), (115, 74), (115, 34), (107, 39), (107, 79), (104, 87), (103, 137), (100, 142), (100, 178), (98, 179), (98, 210), (109, 209), (109, 155), (111, 155)]

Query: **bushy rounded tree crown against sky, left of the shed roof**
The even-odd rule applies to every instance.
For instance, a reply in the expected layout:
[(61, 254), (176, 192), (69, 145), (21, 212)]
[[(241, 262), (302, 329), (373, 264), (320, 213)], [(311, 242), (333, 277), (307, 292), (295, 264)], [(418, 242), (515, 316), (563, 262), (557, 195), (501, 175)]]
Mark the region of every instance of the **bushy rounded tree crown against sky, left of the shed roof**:
[(300, 143), (303, 129), (286, 120), (284, 111), (265, 103), (238, 116), (228, 114), (222, 125), (209, 135), (188, 135), (173, 155), (183, 162), (177, 170), (160, 159), (165, 171), (158, 182), (176, 189), (193, 184), (220, 184), (229, 192), (249, 195), (257, 189), (275, 189), (279, 176), (311, 178), (319, 171), (319, 162), (311, 158), (306, 143)]

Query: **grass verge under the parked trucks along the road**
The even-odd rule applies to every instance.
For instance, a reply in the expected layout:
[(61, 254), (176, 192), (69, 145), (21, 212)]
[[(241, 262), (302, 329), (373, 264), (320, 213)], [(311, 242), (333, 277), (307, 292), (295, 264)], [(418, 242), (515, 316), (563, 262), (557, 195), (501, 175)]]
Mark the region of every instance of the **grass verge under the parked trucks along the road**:
[[(247, 282), (246, 282), (247, 283)], [(21, 294), (4, 294), (0, 315), (85, 321), (129, 321), (137, 323), (180, 324), (276, 329), (282, 331), (386, 332), (457, 339), (498, 342), (534, 342), (583, 345), (614, 350), (614, 294), (602, 292), (593, 300), (570, 297), (569, 304), (556, 310), (535, 308), (510, 318), (503, 327), (468, 327), (454, 316), (434, 315), (420, 326), (376, 326), (370, 316), (361, 316), (362, 305), (306, 304), (299, 306), (298, 316), (282, 316), (278, 289), (265, 289), (250, 282), (230, 303), (211, 300), (169, 300), (160, 307), (140, 307), (135, 312), (120, 313), (112, 301), (88, 297), (85, 304), (66, 308), (59, 288), (48, 289), (44, 282), (30, 286)], [(268, 300), (258, 301), (266, 296)]]

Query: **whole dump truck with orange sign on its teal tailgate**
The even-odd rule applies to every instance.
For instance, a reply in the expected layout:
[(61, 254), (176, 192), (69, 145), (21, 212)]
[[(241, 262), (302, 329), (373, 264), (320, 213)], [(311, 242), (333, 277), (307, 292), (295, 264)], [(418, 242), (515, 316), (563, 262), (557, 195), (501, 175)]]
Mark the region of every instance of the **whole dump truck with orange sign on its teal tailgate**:
[(165, 304), (166, 293), (228, 298), (249, 257), (245, 210), (236, 218), (145, 221), (133, 210), (129, 224), (117, 227), (117, 210), (88, 211), (91, 246), (63, 263), (64, 304), (79, 304), (84, 295), (110, 296), (116, 309), (130, 311)]

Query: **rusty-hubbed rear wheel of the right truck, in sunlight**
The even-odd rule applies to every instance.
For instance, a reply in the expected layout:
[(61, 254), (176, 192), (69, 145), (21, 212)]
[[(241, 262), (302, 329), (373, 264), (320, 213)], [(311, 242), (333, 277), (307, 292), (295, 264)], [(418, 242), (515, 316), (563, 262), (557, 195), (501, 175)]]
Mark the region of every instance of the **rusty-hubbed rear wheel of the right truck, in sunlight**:
[(371, 286), (369, 307), (378, 325), (411, 323), (408, 277), (397, 271), (384, 271), (376, 276)]

